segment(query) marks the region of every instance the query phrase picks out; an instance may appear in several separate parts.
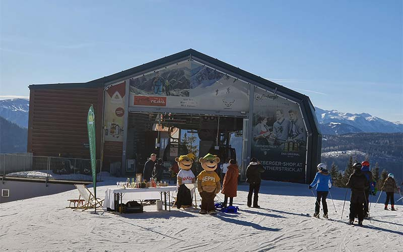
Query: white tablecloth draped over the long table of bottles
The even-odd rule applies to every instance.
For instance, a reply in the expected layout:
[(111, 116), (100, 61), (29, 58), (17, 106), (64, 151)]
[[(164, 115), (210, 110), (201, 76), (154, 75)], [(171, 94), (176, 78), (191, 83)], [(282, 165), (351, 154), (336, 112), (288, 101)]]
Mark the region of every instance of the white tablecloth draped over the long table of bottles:
[(114, 194), (124, 194), (124, 196), (126, 196), (126, 199), (130, 200), (159, 200), (161, 199), (160, 192), (175, 192), (175, 191), (177, 191), (176, 186), (136, 188), (136, 189), (107, 188), (105, 192), (105, 201), (103, 203), (103, 210), (106, 211), (106, 208), (110, 208), (113, 210), (115, 209)]

